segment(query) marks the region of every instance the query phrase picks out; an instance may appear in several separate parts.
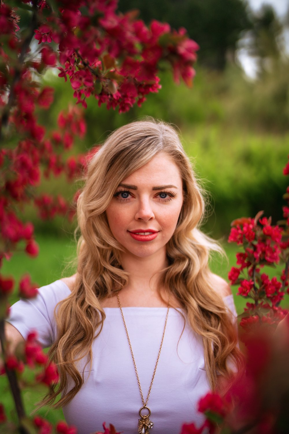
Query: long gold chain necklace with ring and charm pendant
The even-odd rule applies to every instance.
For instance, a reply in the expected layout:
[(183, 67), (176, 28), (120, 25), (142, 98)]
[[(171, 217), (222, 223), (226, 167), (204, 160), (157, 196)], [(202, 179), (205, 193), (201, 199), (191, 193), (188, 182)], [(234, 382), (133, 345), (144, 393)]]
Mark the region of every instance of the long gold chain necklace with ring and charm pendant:
[[(118, 294), (117, 294), (117, 301), (118, 301), (118, 304), (119, 304), (119, 306), (120, 306), (120, 299), (119, 299)], [(153, 377), (152, 377), (152, 381), (150, 382), (150, 385), (149, 385), (149, 391), (148, 391), (148, 394), (147, 394), (147, 397), (146, 397), (146, 401), (143, 399), (143, 391), (142, 391), (142, 388), (141, 388), (141, 386), (140, 386), (140, 378), (139, 378), (139, 375), (138, 375), (138, 373), (137, 373), (136, 362), (135, 362), (135, 360), (134, 360), (134, 356), (133, 356), (133, 349), (131, 348), (130, 338), (129, 338), (129, 335), (128, 335), (128, 332), (127, 332), (127, 326), (126, 326), (126, 323), (125, 323), (125, 321), (124, 321), (123, 309), (121, 309), (121, 306), (120, 306), (120, 313), (121, 313), (121, 316), (122, 316), (122, 319), (123, 319), (123, 325), (124, 325), (125, 331), (126, 331), (126, 333), (127, 333), (127, 340), (128, 340), (129, 345), (130, 345), (130, 352), (131, 352), (131, 356), (132, 356), (132, 358), (133, 358), (134, 370), (136, 371), (136, 378), (137, 378), (137, 382), (138, 382), (139, 389), (140, 389), (140, 396), (141, 396), (142, 401), (143, 401), (143, 407), (141, 407), (141, 408), (140, 408), (140, 411), (139, 411), (139, 414), (140, 414), (140, 419), (139, 419), (139, 433), (140, 433), (140, 434), (149, 434), (149, 429), (151, 429), (151, 428), (153, 427), (153, 422), (149, 420), (150, 409), (149, 409), (149, 407), (146, 406), (146, 404), (147, 404), (147, 401), (149, 400), (150, 389), (152, 388), (152, 385), (153, 385), (153, 379), (155, 378), (155, 374), (156, 374), (156, 366), (157, 366), (157, 364), (158, 364), (158, 362), (159, 362), (159, 355), (160, 355), (160, 353), (161, 353), (162, 342), (163, 342), (164, 335), (165, 335), (165, 331), (166, 331), (166, 322), (167, 322), (168, 315), (169, 315), (169, 306), (168, 306), (168, 310), (167, 310), (167, 312), (166, 312), (166, 321), (165, 321), (164, 331), (162, 332), (162, 341), (161, 341), (161, 345), (160, 345), (160, 347), (159, 347), (159, 354), (158, 354), (158, 357), (157, 357), (157, 359), (156, 359), (156, 366), (155, 366), (155, 368), (154, 368), (154, 370), (153, 370)], [(146, 409), (146, 410), (148, 411), (148, 414), (142, 414), (142, 411), (143, 411), (144, 409)]]

